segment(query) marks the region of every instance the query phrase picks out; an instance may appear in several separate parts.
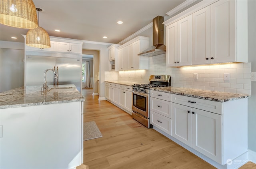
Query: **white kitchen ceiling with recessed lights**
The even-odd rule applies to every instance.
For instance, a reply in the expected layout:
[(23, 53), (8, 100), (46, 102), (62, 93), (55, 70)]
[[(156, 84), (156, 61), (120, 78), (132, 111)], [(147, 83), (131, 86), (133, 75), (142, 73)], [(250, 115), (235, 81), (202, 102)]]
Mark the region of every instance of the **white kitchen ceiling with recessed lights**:
[[(39, 13), (39, 26), (49, 36), (117, 44), (184, 1), (34, 0), (34, 4), (43, 10)], [(119, 20), (124, 23), (117, 24)], [(0, 24), (0, 40), (3, 41), (24, 42), (22, 34), (27, 32), (28, 29)]]

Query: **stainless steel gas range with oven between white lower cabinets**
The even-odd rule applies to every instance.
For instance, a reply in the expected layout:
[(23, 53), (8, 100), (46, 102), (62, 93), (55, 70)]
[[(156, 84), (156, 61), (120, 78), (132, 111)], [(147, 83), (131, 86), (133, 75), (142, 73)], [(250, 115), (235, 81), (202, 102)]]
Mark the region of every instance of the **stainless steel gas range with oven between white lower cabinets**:
[(132, 85), (132, 117), (150, 128), (150, 88), (170, 86), (169, 75), (151, 75), (149, 84)]

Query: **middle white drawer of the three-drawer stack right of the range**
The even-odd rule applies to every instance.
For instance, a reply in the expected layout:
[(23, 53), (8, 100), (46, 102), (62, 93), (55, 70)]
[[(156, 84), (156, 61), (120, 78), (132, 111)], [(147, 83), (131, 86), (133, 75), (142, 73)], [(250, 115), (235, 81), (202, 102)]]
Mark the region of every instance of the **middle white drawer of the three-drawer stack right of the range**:
[(172, 118), (172, 102), (150, 97), (150, 110)]

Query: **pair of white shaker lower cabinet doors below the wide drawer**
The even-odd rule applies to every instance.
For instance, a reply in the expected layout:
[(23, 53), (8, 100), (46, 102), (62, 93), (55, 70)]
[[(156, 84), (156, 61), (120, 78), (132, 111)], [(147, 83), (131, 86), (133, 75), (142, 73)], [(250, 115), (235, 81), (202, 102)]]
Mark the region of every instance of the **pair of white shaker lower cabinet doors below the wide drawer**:
[(222, 162), (222, 115), (172, 103), (172, 119), (172, 137)]

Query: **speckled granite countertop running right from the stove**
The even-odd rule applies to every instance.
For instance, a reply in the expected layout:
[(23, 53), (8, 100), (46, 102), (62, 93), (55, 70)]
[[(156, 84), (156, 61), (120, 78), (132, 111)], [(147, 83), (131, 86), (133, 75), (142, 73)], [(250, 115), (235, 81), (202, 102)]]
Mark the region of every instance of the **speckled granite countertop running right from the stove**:
[(151, 88), (151, 90), (162, 91), (166, 93), (185, 95), (189, 97), (196, 97), (199, 99), (207, 99), (212, 101), (232, 101), (237, 99), (248, 98), (249, 95), (246, 94), (236, 94), (236, 93), (225, 93), (218, 91), (200, 90), (200, 89), (188, 89), (181, 87), (156, 87)]

